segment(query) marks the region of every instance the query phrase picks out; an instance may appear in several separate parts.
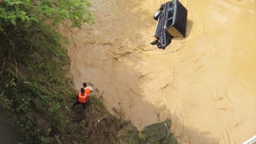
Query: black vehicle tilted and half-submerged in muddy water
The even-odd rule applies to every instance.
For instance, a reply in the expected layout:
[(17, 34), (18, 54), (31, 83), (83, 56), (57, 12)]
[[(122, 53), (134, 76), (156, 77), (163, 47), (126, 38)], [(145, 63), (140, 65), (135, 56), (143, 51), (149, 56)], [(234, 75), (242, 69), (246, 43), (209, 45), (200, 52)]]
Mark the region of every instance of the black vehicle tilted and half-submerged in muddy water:
[(165, 49), (173, 37), (185, 37), (187, 14), (188, 11), (178, 0), (162, 4), (153, 16), (157, 20), (154, 32), (157, 40), (151, 44), (157, 44), (158, 48)]

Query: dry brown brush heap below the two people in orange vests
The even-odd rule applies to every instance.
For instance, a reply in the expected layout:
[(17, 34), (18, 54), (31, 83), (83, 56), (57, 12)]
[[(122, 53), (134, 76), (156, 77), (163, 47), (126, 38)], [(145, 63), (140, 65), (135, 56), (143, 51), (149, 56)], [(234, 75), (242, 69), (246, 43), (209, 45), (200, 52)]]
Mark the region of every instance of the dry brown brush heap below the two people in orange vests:
[[(78, 144), (118, 143), (116, 132), (121, 129), (124, 124), (123, 121), (109, 114), (104, 105), (99, 105), (102, 102), (96, 95), (91, 95), (90, 99), (90, 107), (88, 107), (87, 112), (82, 113), (79, 122), (76, 122), (77, 125), (73, 126), (74, 120), (67, 125), (67, 132), (71, 133), (71, 137), (67, 139), (76, 141)], [(81, 107), (76, 106), (74, 109), (81, 111)]]

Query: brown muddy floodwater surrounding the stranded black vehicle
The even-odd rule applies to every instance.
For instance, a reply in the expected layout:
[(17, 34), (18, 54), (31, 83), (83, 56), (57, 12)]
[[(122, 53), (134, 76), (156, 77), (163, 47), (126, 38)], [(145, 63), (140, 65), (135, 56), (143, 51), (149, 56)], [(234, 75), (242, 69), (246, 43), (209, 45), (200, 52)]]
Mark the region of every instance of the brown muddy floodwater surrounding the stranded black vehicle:
[(151, 46), (167, 0), (91, 0), (95, 24), (60, 28), (76, 88), (139, 130), (166, 118), (180, 144), (241, 144), (256, 135), (256, 0), (180, 0), (185, 38)]

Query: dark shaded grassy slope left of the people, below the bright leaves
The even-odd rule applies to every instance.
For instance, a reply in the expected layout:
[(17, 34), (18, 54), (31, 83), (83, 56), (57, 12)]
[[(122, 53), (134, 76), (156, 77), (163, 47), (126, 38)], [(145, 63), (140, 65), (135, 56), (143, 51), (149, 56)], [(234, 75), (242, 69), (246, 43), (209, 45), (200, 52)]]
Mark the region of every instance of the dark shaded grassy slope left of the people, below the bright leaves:
[[(39, 144), (48, 141), (52, 132), (64, 130), (67, 123), (63, 116), (66, 109), (57, 107), (56, 102), (64, 107), (66, 100), (74, 95), (74, 90), (67, 85), (72, 81), (64, 76), (69, 69), (62, 68), (70, 61), (67, 50), (60, 46), (61, 36), (54, 31), (44, 27), (36, 32), (25, 27), (16, 30), (0, 34), (3, 38), (0, 41), (0, 107), (7, 110), (9, 118), (17, 117), (12, 122), (20, 130), (21, 143)], [(57, 57), (57, 52), (64, 55)], [(43, 61), (36, 62), (29, 56), (33, 53), (38, 53)], [(38, 126), (38, 120), (28, 115), (31, 112), (48, 118), (51, 128)], [(29, 123), (20, 121), (20, 115), (26, 115)]]

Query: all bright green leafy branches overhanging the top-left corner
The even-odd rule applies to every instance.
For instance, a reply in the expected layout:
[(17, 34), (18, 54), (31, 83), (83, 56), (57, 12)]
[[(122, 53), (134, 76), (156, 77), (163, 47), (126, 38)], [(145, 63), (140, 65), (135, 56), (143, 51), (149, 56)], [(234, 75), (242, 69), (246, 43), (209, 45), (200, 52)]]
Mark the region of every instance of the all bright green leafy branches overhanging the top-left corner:
[(51, 26), (70, 20), (72, 26), (80, 28), (84, 22), (93, 22), (90, 5), (89, 0), (3, 0), (0, 3), (0, 31), (6, 31), (10, 24), (29, 27), (32, 22), (44, 23), (45, 20)]

